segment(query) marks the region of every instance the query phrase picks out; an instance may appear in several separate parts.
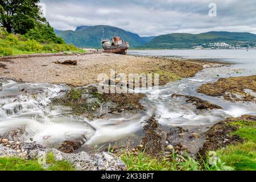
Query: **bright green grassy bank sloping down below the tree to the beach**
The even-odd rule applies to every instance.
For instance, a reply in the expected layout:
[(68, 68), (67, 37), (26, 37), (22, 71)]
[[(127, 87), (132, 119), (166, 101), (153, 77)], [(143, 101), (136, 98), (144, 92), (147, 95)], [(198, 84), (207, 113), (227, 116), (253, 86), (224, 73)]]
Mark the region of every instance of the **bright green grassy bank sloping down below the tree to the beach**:
[(39, 43), (19, 34), (9, 34), (0, 28), (0, 56), (28, 55), (32, 53), (85, 52), (73, 45)]

